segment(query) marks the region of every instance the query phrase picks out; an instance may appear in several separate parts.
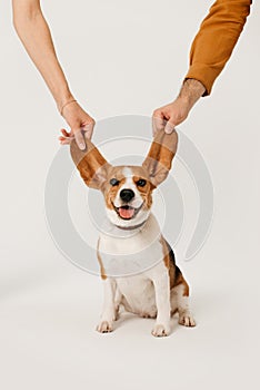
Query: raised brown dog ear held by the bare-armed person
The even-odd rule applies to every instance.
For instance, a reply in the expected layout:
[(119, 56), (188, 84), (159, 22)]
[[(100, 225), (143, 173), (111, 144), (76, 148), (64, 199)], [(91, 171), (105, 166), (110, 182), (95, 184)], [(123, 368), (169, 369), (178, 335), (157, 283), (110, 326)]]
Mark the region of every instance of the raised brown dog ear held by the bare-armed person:
[(100, 189), (108, 177), (110, 164), (99, 153), (97, 147), (86, 139), (86, 149), (80, 150), (74, 139), (70, 144), (71, 157), (87, 186)]

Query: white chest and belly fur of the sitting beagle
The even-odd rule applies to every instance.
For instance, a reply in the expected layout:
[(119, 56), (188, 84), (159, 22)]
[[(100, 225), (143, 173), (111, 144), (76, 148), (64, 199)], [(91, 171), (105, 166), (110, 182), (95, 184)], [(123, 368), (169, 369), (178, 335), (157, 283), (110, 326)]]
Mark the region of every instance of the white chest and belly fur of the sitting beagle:
[(100, 236), (99, 248), (107, 274), (117, 276), (126, 309), (142, 316), (157, 313), (152, 274), (168, 272), (160, 237), (160, 227), (152, 214), (137, 231), (110, 225), (109, 232)]

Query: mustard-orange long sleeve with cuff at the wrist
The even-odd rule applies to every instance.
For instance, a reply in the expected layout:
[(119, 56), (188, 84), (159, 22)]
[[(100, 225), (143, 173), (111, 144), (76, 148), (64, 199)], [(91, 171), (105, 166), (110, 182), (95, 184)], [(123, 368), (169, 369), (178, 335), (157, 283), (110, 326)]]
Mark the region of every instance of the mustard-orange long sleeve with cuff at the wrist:
[(207, 96), (230, 58), (250, 12), (251, 0), (217, 0), (202, 21), (190, 50), (186, 79), (203, 84)]

